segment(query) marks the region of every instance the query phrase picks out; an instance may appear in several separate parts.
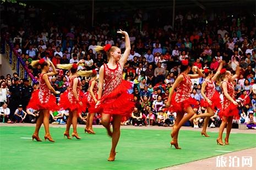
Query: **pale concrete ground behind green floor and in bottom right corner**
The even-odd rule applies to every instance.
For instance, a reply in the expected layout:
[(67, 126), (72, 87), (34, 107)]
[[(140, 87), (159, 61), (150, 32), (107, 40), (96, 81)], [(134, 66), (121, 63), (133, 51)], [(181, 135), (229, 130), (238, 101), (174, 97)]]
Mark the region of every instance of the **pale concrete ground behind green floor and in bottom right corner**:
[[(14, 123), (14, 124), (9, 124), (9, 123), (0, 123), (1, 126), (35, 126), (35, 124), (31, 123)], [(50, 127), (66, 127), (66, 124), (50, 124)], [(85, 125), (79, 124), (78, 127), (85, 127)], [(100, 125), (95, 125), (94, 128), (102, 128)], [(171, 132), (171, 127), (159, 127), (159, 126), (143, 126), (143, 127), (134, 127), (134, 126), (122, 126), (122, 129), (155, 129), (155, 130), (165, 130), (165, 131), (170, 131)], [(182, 130), (186, 131), (201, 131), (201, 128), (194, 129), (192, 127), (182, 127)], [(218, 132), (219, 128), (208, 128), (208, 132)], [(256, 129), (246, 129), (246, 130), (241, 130), (241, 129), (232, 129), (231, 133), (250, 133), (250, 134), (255, 134)], [(256, 138), (255, 138), (256, 142)], [(247, 170), (247, 169), (256, 169), (256, 148), (252, 149), (246, 149), (246, 150), (241, 150), (241, 151), (236, 151), (236, 152), (230, 152), (224, 155), (221, 155), (225, 158), (227, 158), (226, 165), (220, 165), (218, 167), (217, 162), (219, 162), (220, 157), (210, 157), (210, 158), (205, 158), (203, 160), (198, 160), (198, 161), (193, 161), (189, 163), (184, 163), (182, 165), (177, 165), (177, 166), (172, 166), (172, 167), (166, 167), (166, 168), (161, 168), (161, 170), (171, 170), (171, 169), (197, 169), (197, 170), (213, 170), (213, 169), (224, 169), (224, 170), (229, 170), (229, 169), (241, 169), (241, 170)], [(231, 167), (232, 165), (229, 165), (229, 157), (238, 157), (240, 162), (239, 162), (239, 167)], [(242, 165), (242, 157), (243, 156), (250, 156), (252, 157), (252, 165), (249, 167), (248, 165)], [(248, 161), (246, 163), (249, 163)], [(236, 166), (237, 164), (235, 164)], [(225, 167), (226, 166), (226, 167)]]

